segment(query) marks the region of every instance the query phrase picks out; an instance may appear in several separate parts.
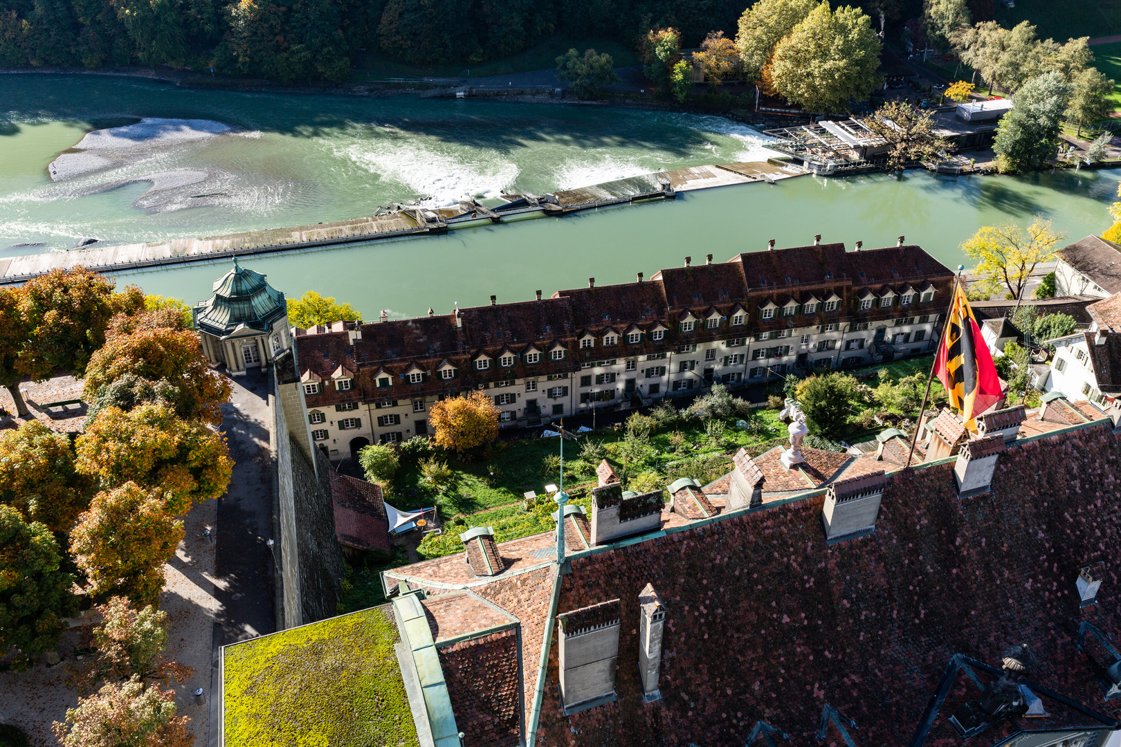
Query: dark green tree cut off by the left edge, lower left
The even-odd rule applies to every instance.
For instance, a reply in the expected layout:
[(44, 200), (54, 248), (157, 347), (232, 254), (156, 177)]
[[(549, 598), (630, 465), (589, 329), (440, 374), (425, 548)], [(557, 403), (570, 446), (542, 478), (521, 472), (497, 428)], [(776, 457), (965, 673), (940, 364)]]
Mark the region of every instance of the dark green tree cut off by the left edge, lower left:
[(36, 656), (57, 646), (63, 618), (77, 611), (74, 577), (61, 563), (50, 530), (0, 505), (0, 647), (19, 651), (17, 670), (30, 669)]

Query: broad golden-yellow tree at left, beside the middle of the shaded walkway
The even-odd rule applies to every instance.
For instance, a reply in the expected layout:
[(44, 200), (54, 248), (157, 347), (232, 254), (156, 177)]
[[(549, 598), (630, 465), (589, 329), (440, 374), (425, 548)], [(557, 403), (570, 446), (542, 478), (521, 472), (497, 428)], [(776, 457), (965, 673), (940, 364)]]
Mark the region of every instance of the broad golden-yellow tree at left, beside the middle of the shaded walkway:
[(77, 439), (76, 464), (101, 489), (129, 480), (158, 487), (173, 515), (225, 493), (233, 470), (222, 436), (165, 404), (102, 410)]

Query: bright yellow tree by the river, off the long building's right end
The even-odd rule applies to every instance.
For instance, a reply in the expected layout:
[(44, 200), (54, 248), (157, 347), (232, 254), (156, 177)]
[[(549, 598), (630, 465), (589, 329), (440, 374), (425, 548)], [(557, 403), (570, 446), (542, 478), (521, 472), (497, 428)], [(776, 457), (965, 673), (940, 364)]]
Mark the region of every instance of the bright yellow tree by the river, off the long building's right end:
[(1004, 287), (1012, 298), (1020, 298), (1028, 277), (1055, 256), (1062, 233), (1051, 231), (1051, 222), (1037, 215), (1026, 230), (1008, 221), (999, 226), (982, 226), (962, 244), (962, 251), (978, 261), (978, 274), (992, 289)]

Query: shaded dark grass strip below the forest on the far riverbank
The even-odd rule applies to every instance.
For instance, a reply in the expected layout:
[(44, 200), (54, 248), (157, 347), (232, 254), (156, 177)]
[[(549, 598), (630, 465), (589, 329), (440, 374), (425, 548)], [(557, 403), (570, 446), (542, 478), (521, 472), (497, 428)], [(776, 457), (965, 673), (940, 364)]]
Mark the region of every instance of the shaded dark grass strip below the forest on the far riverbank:
[(634, 50), (618, 39), (596, 37), (572, 39), (558, 35), (512, 57), (492, 59), (479, 65), (469, 63), (462, 65), (414, 65), (371, 50), (363, 54), (360, 60), (362, 69), (354, 71), (352, 77), (358, 80), (413, 76), (490, 77), (510, 73), (527, 73), (556, 67), (557, 56), (568, 52), (569, 48), (578, 49), (581, 53), (589, 48), (600, 53), (605, 52), (614, 59), (615, 67), (626, 67), (639, 62)]

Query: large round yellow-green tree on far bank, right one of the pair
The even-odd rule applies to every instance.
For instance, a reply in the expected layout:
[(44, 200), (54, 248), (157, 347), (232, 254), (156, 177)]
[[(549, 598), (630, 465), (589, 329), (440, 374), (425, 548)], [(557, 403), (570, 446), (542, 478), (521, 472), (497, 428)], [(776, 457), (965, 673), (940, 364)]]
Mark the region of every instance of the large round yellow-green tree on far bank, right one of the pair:
[(807, 111), (847, 112), (851, 101), (867, 101), (883, 83), (880, 47), (859, 8), (831, 12), (822, 0), (775, 48), (775, 88)]

